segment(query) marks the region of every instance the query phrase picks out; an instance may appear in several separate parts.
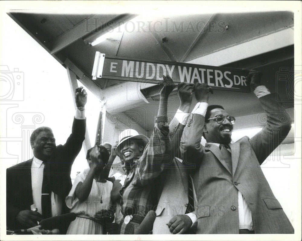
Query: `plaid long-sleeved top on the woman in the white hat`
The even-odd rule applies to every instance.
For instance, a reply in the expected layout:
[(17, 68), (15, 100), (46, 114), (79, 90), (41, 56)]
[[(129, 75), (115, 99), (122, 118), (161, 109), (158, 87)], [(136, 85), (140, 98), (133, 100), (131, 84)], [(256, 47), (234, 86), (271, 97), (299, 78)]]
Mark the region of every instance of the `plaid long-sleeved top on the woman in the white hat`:
[[(128, 174), (121, 190), (122, 214), (135, 215), (143, 219), (148, 211), (157, 203), (156, 177), (163, 170), (163, 165), (169, 161), (169, 126), (167, 122), (156, 122), (153, 134), (146, 145), (142, 156)], [(129, 230), (130, 229), (130, 230)], [(120, 223), (120, 234), (134, 233), (133, 222)]]

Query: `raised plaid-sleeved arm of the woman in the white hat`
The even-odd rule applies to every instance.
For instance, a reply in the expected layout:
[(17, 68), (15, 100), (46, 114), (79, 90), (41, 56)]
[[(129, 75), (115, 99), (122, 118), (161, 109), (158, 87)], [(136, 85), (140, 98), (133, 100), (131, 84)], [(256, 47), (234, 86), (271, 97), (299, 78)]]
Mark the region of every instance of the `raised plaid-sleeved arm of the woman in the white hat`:
[(160, 90), (159, 110), (155, 118), (153, 134), (147, 144), (133, 178), (133, 185), (144, 186), (156, 178), (163, 170), (163, 162), (168, 160), (166, 150), (169, 145), (169, 126), (167, 123), (167, 106), (169, 94), (174, 89), (172, 79), (163, 76), (163, 87)]

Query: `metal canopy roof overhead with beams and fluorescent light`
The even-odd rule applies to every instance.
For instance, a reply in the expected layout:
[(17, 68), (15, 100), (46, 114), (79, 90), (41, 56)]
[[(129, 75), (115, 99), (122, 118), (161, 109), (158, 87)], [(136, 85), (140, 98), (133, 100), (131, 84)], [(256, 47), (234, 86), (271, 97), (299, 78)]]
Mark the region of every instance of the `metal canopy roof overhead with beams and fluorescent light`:
[[(205, 65), (207, 63), (202, 62), (203, 59), (211, 59), (213, 56), (209, 65), (215, 65), (213, 63), (217, 62), (218, 66), (221, 65), (219, 54), (233, 50), (229, 59), (223, 62), (223, 66), (262, 71), (264, 82), (271, 92), (277, 91), (282, 97), (281, 102), (286, 107), (293, 107), (293, 98), (289, 93), (291, 86), (288, 87), (293, 81), (288, 84), (277, 79), (280, 67), (287, 68), (289, 73), (293, 70), (292, 12), (213, 12), (169, 14), (165, 17), (143, 16), (140, 12), (131, 14), (103, 12), (105, 14), (64, 15), (11, 11), (8, 14), (61, 64), (68, 65), (71, 71), (75, 71), (80, 81), (98, 98), (105, 97), (108, 100), (111, 98), (111, 101), (108, 101), (109, 113), (123, 112), (130, 119), (133, 113), (136, 113), (140, 116), (136, 119), (137, 124), (147, 132), (152, 131), (153, 116), (156, 114), (158, 102), (149, 100), (150, 103), (147, 104), (146, 101), (137, 99), (133, 103), (125, 103), (125, 100), (119, 99), (119, 94), (129, 90), (127, 87), (130, 86), (141, 89), (149, 85), (123, 84), (122, 81), (108, 79), (93, 81), (91, 73), (96, 51), (112, 57), (190, 61)], [(95, 46), (89, 44), (98, 36), (110, 31), (112, 26), (117, 27), (121, 24), (125, 24), (124, 31), (111, 34)], [(278, 41), (277, 36), (284, 39)], [(226, 57), (225, 54), (223, 57)], [(175, 101), (169, 105), (169, 111), (175, 113), (179, 105), (178, 97), (171, 98)], [(111, 104), (111, 108), (110, 103), (114, 103)], [(212, 103), (223, 104), (234, 116), (246, 116), (262, 111), (257, 98), (249, 93), (217, 90), (211, 96), (210, 104)], [(252, 121), (246, 118), (237, 128), (244, 126), (252, 127)]]

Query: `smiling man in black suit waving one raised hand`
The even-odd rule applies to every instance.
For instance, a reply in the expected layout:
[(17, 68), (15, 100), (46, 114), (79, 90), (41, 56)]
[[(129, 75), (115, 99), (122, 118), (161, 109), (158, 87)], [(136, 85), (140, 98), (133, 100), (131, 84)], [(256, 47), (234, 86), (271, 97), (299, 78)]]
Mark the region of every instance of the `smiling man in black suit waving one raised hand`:
[[(30, 138), (34, 157), (6, 170), (6, 225), (9, 229), (34, 227), (37, 221), (69, 213), (65, 197), (72, 187), (71, 166), (85, 139), (87, 93), (83, 87), (76, 88), (75, 102), (72, 133), (64, 145), (56, 146), (49, 127), (39, 127)], [(37, 210), (31, 208), (33, 204)], [(60, 233), (65, 229), (62, 227)]]

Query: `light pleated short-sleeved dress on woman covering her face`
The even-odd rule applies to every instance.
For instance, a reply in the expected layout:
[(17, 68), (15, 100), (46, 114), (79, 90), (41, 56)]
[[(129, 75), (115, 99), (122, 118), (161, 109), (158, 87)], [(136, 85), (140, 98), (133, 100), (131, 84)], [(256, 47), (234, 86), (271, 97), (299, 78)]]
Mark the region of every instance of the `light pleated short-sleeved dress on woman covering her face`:
[(103, 234), (102, 225), (92, 219), (96, 212), (109, 209), (113, 183), (110, 181), (96, 182), (93, 179), (88, 198), (81, 202), (76, 197), (76, 186), (79, 182), (84, 182), (88, 172), (89, 168), (76, 176), (72, 189), (65, 199), (70, 212), (77, 214), (76, 219), (70, 223), (66, 234)]

